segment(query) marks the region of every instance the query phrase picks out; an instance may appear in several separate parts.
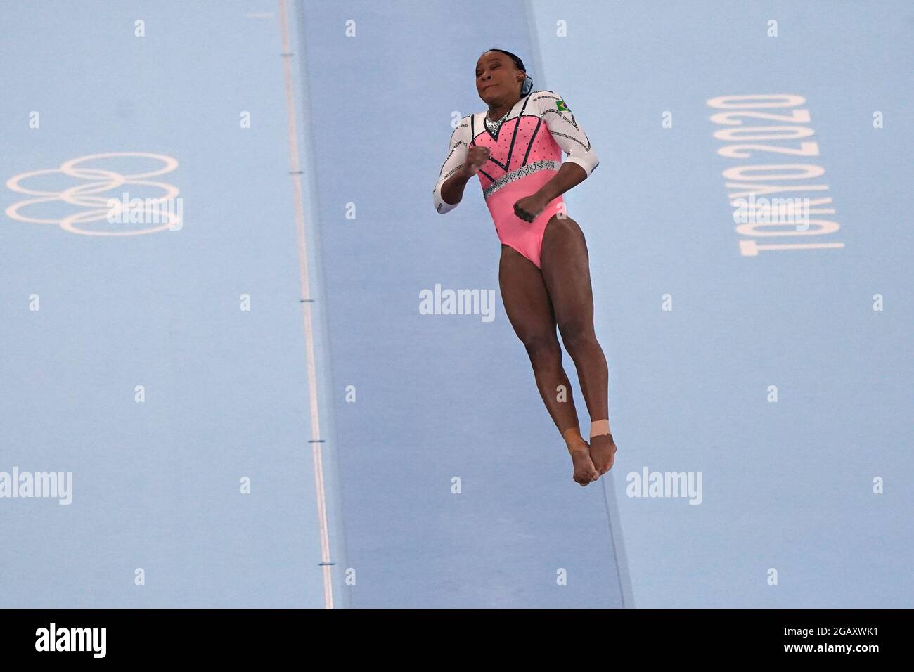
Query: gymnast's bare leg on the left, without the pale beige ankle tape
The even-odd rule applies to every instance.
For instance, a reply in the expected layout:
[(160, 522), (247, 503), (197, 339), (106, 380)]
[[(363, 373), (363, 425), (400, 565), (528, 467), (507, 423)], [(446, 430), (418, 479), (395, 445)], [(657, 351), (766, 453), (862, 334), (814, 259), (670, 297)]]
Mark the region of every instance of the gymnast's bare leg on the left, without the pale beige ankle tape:
[(562, 368), (562, 349), (543, 275), (523, 254), (503, 244), (498, 284), (508, 320), (533, 365), (539, 395), (568, 446), (574, 480), (587, 485), (599, 475), (591, 461), (588, 443), (579, 433), (578, 413), (571, 398), (568, 375)]

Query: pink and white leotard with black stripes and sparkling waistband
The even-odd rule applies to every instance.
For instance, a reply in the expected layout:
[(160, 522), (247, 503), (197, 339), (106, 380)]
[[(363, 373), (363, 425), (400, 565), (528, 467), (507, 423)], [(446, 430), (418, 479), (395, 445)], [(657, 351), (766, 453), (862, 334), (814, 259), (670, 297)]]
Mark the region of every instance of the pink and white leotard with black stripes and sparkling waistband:
[(558, 173), (563, 150), (566, 161), (580, 165), (588, 176), (600, 160), (568, 105), (554, 91), (531, 91), (521, 98), (496, 133), (486, 127), (485, 114), (463, 117), (451, 134), (450, 154), (433, 190), (435, 209), (444, 214), (457, 207), (444, 202), (441, 186), (460, 169), (471, 146), (489, 147), (489, 158), (477, 175), (498, 239), (539, 268), (543, 233), (564, 199), (559, 195), (549, 201), (533, 222), (517, 217), (514, 204), (533, 196)]

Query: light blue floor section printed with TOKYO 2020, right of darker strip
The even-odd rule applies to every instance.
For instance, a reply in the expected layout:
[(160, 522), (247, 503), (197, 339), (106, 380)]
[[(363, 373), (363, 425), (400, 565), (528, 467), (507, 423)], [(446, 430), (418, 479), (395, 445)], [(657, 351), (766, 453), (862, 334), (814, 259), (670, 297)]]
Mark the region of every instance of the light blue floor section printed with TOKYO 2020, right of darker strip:
[[(914, 95), (905, 74), (914, 8), (533, 5), (540, 81), (567, 98), (600, 155), (569, 212), (598, 269), (636, 605), (914, 605)], [(771, 19), (778, 37), (768, 37)], [(568, 37), (556, 37), (559, 20)], [(736, 143), (713, 137), (723, 126), (707, 100), (760, 93), (806, 99), (811, 123), (800, 125), (815, 133), (803, 140), (817, 141), (819, 156), (717, 155)], [(786, 184), (827, 185), (835, 214), (819, 219), (840, 229), (758, 241), (845, 247), (742, 256), (738, 241), (749, 238), (735, 231), (727, 194), (738, 189), (725, 187), (723, 171), (804, 163), (824, 176)], [(877, 293), (883, 312), (872, 309)], [(672, 312), (661, 311), (664, 294)], [(771, 385), (777, 403), (767, 400)], [(644, 467), (701, 472), (701, 505), (625, 496), (622, 477)]]

